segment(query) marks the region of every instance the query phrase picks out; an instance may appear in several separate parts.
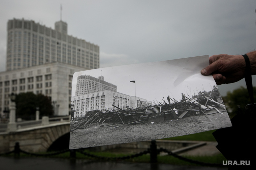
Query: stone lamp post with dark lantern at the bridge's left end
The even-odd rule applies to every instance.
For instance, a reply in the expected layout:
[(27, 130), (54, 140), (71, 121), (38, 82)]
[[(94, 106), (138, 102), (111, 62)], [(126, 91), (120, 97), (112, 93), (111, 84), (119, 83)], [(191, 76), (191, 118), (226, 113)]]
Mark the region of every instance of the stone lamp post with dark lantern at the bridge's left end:
[(7, 125), (7, 131), (15, 131), (17, 130), (17, 124), (16, 124), (16, 104), (15, 104), (15, 98), (16, 95), (14, 93), (11, 93), (9, 95), (10, 97), (10, 115), (9, 115), (9, 122)]

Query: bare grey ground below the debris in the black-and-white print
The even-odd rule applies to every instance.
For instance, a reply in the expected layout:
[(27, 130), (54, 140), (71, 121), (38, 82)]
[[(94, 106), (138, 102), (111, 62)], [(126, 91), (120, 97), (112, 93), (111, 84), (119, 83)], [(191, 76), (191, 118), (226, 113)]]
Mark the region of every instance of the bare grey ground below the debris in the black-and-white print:
[[(70, 149), (161, 139), (224, 128), (230, 120), (227, 112), (221, 111), (223, 114), (201, 113), (181, 119), (165, 120), (162, 123), (150, 121), (144, 124), (126, 125), (92, 123), (85, 129), (70, 132)], [(71, 128), (73, 123), (71, 122)]]

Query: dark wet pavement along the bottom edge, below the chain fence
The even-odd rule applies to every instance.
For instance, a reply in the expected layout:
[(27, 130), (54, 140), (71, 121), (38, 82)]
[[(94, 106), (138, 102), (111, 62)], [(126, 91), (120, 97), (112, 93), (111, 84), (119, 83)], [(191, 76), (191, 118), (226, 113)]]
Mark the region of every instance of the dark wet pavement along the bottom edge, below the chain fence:
[[(216, 170), (216, 167), (177, 166), (169, 164), (92, 162), (53, 158), (6, 158), (0, 157), (1, 170)], [(227, 170), (227, 168), (218, 168)]]

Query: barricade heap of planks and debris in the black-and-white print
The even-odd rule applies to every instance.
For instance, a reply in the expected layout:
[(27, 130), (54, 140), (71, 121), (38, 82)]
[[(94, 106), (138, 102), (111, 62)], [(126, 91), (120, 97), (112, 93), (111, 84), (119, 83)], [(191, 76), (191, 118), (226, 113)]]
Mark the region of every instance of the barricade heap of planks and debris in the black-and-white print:
[[(189, 97), (189, 96), (188, 96)], [(144, 124), (144, 123), (162, 123), (165, 120), (181, 119), (187, 116), (222, 114), (226, 111), (221, 96), (214, 96), (212, 93), (200, 92), (192, 98), (184, 97), (181, 101), (171, 99), (173, 103), (164, 102), (155, 103), (154, 106), (141, 106), (138, 108), (118, 108), (112, 105), (112, 109), (104, 111), (94, 110), (87, 113), (84, 117), (76, 118), (71, 123), (71, 131), (76, 129), (85, 129), (92, 123), (100, 124), (100, 127), (109, 126), (117, 128), (124, 125)]]

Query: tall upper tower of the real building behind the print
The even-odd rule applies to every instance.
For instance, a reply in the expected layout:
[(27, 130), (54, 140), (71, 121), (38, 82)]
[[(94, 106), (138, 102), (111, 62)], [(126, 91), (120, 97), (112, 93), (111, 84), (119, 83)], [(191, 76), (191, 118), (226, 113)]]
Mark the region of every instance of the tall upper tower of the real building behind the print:
[(63, 21), (51, 29), (33, 20), (8, 20), (6, 70), (52, 62), (99, 68), (99, 46), (68, 35), (67, 30)]

